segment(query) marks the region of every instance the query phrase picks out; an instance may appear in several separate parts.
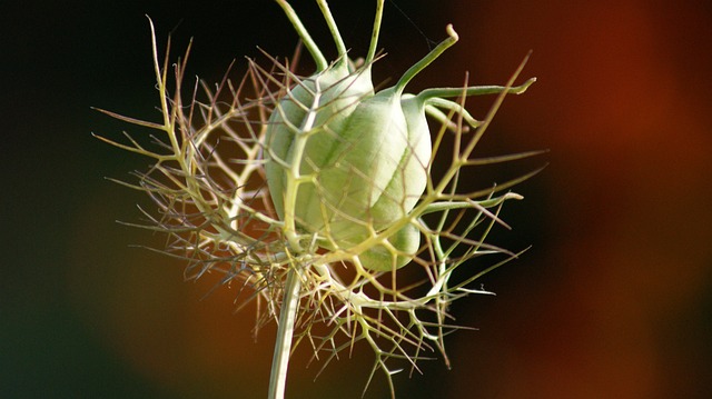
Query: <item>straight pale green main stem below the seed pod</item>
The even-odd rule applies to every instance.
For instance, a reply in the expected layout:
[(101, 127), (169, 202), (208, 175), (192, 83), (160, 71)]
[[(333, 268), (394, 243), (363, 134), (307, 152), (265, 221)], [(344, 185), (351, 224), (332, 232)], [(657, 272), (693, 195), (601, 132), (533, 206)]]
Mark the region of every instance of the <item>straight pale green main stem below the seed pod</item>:
[(279, 326), (277, 327), (277, 339), (275, 340), (275, 355), (271, 359), (268, 399), (283, 399), (285, 397), (291, 337), (294, 335), (300, 289), (301, 281), (299, 280), (298, 271), (295, 267), (291, 267), (287, 271), (285, 292), (279, 310)]

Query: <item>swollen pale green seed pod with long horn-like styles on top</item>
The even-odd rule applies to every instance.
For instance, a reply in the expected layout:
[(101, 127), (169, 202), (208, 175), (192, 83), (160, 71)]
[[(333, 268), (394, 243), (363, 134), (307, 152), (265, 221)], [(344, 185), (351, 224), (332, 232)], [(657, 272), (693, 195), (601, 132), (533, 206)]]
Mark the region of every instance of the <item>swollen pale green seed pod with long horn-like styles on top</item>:
[[(318, 72), (298, 82), (279, 99), (270, 116), (265, 141), (267, 183), (283, 231), (300, 249), (299, 235), (308, 233), (325, 249), (360, 249), (366, 269), (388, 271), (409, 262), (418, 250), (419, 230), (403, 223), (423, 194), (432, 156), (426, 112), (443, 121), (445, 108), (476, 121), (446, 97), (502, 92), (505, 88), (428, 89), (404, 93), (407, 83), (457, 41), (448, 38), (404, 73), (398, 82), (376, 94), (370, 82), (384, 0), (364, 67), (353, 70), (325, 0), (317, 0), (332, 29), (340, 58), (333, 66), (308, 37), (294, 11), (278, 0), (317, 62)], [(319, 67), (320, 66), (320, 67)], [(523, 90), (522, 90), (523, 91)], [(386, 235), (387, 232), (387, 235)], [(387, 242), (385, 242), (387, 241)]]

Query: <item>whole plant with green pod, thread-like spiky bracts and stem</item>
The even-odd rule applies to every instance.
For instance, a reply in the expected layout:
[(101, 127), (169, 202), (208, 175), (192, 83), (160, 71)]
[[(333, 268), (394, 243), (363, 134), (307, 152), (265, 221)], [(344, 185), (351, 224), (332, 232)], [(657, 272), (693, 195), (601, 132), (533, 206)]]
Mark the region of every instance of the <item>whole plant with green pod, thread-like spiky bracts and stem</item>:
[[(418, 370), (429, 352), (449, 366), (444, 337), (459, 327), (447, 321), (448, 306), (488, 293), (473, 282), (517, 256), (485, 238), (494, 225), (506, 227), (497, 217), (503, 203), (522, 198), (508, 189), (535, 171), (475, 192), (458, 182), (478, 166), (536, 153), (475, 156), (505, 94), (524, 92), (534, 79), (514, 86), (522, 63), (505, 86), (406, 92), (457, 41), (448, 26), (444, 41), (376, 91), (370, 70), (384, 1), (376, 0), (366, 57), (353, 59), (327, 1), (316, 0), (338, 52), (329, 62), (295, 10), (277, 0), (316, 71), (300, 77), (293, 63), (267, 56), (268, 66), (250, 60), (237, 81), (226, 74), (189, 91), (190, 48), (172, 66), (167, 49), (161, 62), (151, 23), (162, 119), (102, 111), (160, 133), (150, 148), (129, 134), (126, 143), (100, 137), (154, 160), (138, 182), (120, 182), (158, 207), (144, 211), (150, 223), (141, 227), (167, 235), (161, 250), (185, 259), (189, 278), (219, 272), (224, 285), (248, 289), (243, 305), (257, 302), (257, 328), (277, 321), (269, 398), (284, 397), (297, 343), (324, 367), (343, 351), (370, 348), (366, 388), (383, 371), (392, 396), (392, 376)], [(497, 94), (482, 120), (465, 109), (477, 94)], [(435, 173), (436, 163), (445, 170)], [(486, 269), (468, 269), (473, 258), (496, 253), (504, 257)]]

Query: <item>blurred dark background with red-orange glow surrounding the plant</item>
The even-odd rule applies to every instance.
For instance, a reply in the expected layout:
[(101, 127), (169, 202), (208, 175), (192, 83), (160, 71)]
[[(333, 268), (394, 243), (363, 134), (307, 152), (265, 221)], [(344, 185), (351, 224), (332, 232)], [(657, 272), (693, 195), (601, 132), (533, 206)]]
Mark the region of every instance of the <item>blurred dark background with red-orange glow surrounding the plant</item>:
[[(355, 53), (373, 1), (332, 1)], [(295, 1), (329, 42), (310, 1)], [(271, 1), (0, 4), (0, 397), (264, 398), (274, 328), (182, 265), (130, 245), (161, 237), (137, 221), (129, 178), (147, 160), (92, 139), (130, 127), (90, 107), (157, 118), (147, 19), (174, 54), (195, 43), (189, 74), (221, 78), (257, 46), (290, 56), (296, 34)], [(712, 6), (692, 1), (388, 0), (376, 81), (398, 77), (445, 37), (461, 42), (412, 90), (503, 84), (533, 50), (482, 154), (548, 149), (503, 166), (525, 201), (503, 212), (494, 243), (520, 260), (487, 275), (496, 297), (453, 308), (476, 327), (449, 337), (453, 369), (395, 378), (399, 398), (709, 398), (712, 395)], [(357, 52), (356, 52), (357, 51)], [(472, 101), (483, 116), (491, 99)], [(487, 176), (468, 177), (482, 187)], [(205, 297), (205, 298), (204, 298)], [(306, 368), (287, 398), (358, 398), (372, 357)], [(380, 376), (367, 398), (386, 398)]]

